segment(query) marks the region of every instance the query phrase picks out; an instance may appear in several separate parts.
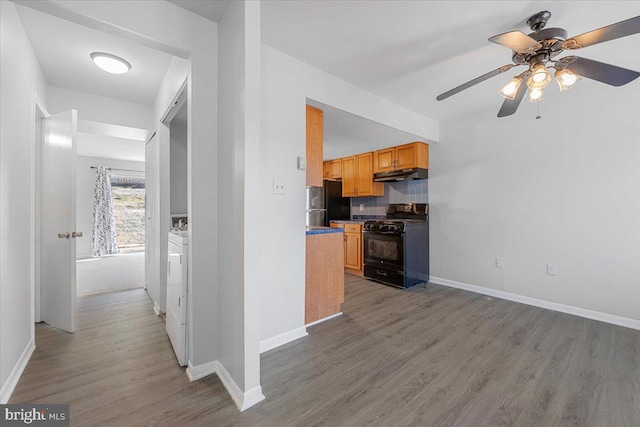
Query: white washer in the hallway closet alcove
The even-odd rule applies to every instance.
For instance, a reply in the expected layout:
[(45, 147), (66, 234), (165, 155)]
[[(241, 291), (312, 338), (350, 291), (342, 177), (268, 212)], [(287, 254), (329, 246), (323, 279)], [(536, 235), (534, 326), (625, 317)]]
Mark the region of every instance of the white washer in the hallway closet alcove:
[(187, 365), (188, 231), (169, 232), (167, 334), (180, 366)]

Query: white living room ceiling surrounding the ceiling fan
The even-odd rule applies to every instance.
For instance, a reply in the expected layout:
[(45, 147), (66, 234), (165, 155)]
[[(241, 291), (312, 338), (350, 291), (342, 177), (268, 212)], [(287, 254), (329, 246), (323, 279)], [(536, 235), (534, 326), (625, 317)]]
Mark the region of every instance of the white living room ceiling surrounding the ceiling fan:
[[(447, 100), (435, 98), (511, 63), (511, 51), (487, 39), (515, 29), (529, 33), (526, 19), (541, 10), (552, 13), (547, 27), (575, 36), (640, 15), (640, 1), (270, 0), (261, 6), (262, 40), (417, 113), (447, 119), (482, 108), (497, 113), (496, 92), (518, 68)], [(634, 35), (573, 54), (640, 70), (639, 43)], [(585, 90), (601, 84), (585, 80)], [(640, 79), (629, 84), (635, 89), (611, 88), (612, 94), (639, 85)]]

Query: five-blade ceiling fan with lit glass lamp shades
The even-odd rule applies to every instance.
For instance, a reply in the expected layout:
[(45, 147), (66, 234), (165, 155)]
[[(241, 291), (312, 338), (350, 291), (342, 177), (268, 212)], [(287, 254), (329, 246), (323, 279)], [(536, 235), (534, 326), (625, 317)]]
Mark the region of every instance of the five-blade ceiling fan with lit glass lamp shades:
[[(554, 70), (554, 77), (561, 92), (572, 87), (581, 77), (612, 86), (622, 86), (640, 76), (637, 71), (573, 55), (554, 59), (564, 50), (580, 49), (640, 33), (640, 16), (571, 38), (567, 38), (567, 32), (563, 28), (545, 29), (549, 18), (551, 18), (551, 12), (548, 11), (538, 12), (531, 16), (527, 20), (527, 25), (533, 32), (529, 35), (521, 31), (510, 31), (491, 37), (489, 41), (513, 51), (513, 64), (503, 65), (496, 70), (476, 77), (438, 95), (436, 99), (442, 101), (491, 77), (524, 65), (527, 69), (512, 78), (498, 91), (505, 98), (502, 108), (498, 112), (498, 117), (505, 117), (516, 112), (527, 89), (529, 89), (529, 101), (542, 100), (544, 97), (543, 89), (551, 83), (552, 79), (549, 68)], [(526, 84), (523, 85), (523, 82)]]

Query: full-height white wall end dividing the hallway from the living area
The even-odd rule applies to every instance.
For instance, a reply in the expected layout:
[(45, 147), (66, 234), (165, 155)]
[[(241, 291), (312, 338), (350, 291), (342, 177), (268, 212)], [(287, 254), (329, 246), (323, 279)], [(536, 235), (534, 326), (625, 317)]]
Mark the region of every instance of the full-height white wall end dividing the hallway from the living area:
[[(260, 387), (260, 3), (231, 2), (220, 20), (220, 362), (245, 394)], [(238, 402), (236, 402), (238, 403)]]

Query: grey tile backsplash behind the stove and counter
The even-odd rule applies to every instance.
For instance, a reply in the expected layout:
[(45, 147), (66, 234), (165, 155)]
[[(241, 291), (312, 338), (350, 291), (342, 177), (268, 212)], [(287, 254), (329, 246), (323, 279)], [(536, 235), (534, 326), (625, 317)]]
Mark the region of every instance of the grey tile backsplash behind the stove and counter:
[[(385, 215), (389, 203), (429, 203), (429, 180), (398, 181), (384, 184), (382, 197), (351, 198), (351, 216), (353, 215)], [(360, 205), (364, 210), (360, 211)]]

